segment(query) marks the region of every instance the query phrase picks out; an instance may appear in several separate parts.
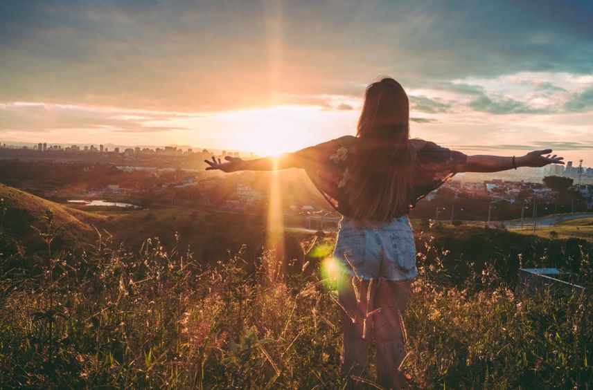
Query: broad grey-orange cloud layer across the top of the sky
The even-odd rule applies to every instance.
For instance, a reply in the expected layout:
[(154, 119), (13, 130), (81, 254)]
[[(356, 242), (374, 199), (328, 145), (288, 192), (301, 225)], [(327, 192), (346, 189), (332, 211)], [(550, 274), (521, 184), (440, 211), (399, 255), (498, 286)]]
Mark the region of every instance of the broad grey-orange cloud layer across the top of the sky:
[(360, 95), (380, 73), (420, 86), (591, 74), (591, 15), (587, 0), (5, 0), (0, 101), (220, 111), (276, 93)]

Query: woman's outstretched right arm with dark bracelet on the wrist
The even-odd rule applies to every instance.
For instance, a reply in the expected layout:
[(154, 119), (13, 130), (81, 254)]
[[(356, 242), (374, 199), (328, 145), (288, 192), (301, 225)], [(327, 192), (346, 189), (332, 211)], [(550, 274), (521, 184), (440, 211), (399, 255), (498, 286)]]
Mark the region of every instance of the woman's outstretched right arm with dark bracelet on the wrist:
[[(524, 156), (502, 157), (475, 155), (468, 156), (466, 163), (458, 167), (458, 172), (497, 172), (518, 167), (543, 167), (548, 164), (564, 164), (563, 157), (551, 156), (552, 149), (530, 151)], [(547, 155), (547, 156), (544, 156)]]

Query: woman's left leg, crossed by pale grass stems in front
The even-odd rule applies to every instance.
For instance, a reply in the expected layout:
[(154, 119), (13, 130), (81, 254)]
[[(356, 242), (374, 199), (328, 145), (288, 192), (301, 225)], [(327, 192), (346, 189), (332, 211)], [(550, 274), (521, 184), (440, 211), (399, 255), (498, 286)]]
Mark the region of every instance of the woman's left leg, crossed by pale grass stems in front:
[(370, 340), (373, 336), (372, 323), (366, 318), (366, 314), (372, 310), (368, 305), (367, 295), (369, 295), (368, 280), (357, 279), (349, 275), (339, 278), (338, 298), (344, 328), (340, 368), (342, 380), (348, 383), (348, 389), (357, 387), (357, 382), (351, 377), (362, 375), (366, 367)]

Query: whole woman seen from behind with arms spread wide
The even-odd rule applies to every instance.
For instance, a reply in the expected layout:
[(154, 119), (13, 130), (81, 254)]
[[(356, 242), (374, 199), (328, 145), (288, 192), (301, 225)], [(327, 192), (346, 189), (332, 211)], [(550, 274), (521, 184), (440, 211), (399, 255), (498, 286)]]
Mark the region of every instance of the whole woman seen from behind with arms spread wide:
[[(458, 172), (495, 172), (563, 164), (551, 149), (525, 156), (466, 156), (409, 138), (409, 101), (391, 78), (366, 89), (357, 136), (344, 136), (294, 153), (257, 160), (206, 160), (225, 172), (306, 170), (317, 189), (343, 215), (334, 257), (342, 265), (338, 294), (344, 346), (342, 375), (362, 375), (369, 342), (377, 346), (378, 383), (399, 388), (404, 349), (400, 312), (416, 270), (414, 235), (407, 214), (416, 202)], [(547, 155), (547, 156), (543, 156)]]

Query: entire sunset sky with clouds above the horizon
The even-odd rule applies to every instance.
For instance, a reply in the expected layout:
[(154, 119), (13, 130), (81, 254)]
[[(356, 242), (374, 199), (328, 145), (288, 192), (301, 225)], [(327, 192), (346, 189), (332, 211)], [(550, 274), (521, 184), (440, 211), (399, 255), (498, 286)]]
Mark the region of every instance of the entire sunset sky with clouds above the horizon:
[(0, 2), (0, 142), (272, 154), (355, 134), (365, 87), (411, 136), (593, 166), (593, 2)]

